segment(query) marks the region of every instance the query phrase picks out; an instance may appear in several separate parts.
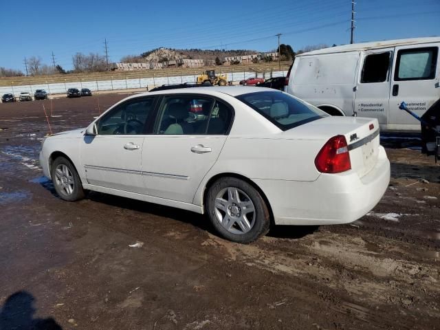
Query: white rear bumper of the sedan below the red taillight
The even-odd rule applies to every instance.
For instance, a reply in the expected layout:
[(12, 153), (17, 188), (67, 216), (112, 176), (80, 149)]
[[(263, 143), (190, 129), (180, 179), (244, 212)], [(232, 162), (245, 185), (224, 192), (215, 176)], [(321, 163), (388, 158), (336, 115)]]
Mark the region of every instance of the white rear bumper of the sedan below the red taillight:
[(350, 223), (373, 209), (390, 181), (390, 162), (379, 147), (375, 167), (360, 178), (354, 171), (321, 174), (316, 181), (254, 180), (269, 199), (278, 225)]

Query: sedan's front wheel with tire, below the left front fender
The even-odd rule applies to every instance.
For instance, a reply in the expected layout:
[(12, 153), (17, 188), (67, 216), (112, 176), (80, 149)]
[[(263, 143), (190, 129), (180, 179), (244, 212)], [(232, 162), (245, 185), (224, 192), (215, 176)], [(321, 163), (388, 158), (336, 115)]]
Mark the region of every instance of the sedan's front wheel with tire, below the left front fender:
[(85, 194), (83, 184), (72, 162), (65, 157), (58, 157), (52, 164), (52, 182), (56, 193), (65, 201), (78, 201)]

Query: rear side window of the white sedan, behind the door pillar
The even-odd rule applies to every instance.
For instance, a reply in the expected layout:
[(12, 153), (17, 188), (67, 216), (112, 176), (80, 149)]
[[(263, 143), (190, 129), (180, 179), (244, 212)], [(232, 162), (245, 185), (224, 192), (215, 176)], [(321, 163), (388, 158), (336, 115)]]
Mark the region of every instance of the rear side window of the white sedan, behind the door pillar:
[(217, 135), (227, 133), (232, 111), (228, 106), (199, 96), (164, 98), (157, 122), (157, 134)]

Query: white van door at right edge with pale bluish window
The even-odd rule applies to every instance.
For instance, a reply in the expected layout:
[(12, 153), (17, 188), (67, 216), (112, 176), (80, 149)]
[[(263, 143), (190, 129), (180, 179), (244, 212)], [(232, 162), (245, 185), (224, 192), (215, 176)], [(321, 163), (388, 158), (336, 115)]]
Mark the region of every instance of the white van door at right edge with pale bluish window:
[(399, 104), (405, 101), (408, 109), (421, 117), (439, 100), (438, 62), (438, 43), (395, 47), (388, 129), (420, 129), (420, 123), (399, 110)]

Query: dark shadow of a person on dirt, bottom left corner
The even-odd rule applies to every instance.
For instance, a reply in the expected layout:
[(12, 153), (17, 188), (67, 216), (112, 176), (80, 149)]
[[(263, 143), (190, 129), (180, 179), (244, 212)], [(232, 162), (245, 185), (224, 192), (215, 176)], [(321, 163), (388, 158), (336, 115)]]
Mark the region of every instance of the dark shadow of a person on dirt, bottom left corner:
[(0, 330), (62, 330), (54, 318), (34, 318), (36, 299), (25, 291), (10, 295), (0, 309)]

